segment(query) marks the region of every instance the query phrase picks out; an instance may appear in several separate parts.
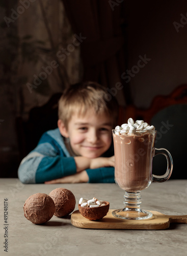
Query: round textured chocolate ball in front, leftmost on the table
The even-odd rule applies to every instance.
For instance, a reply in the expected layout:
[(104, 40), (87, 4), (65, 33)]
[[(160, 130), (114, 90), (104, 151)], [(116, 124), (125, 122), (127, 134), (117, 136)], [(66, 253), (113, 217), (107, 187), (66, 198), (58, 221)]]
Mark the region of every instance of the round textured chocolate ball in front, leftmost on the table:
[(34, 224), (41, 224), (49, 221), (55, 213), (55, 203), (46, 194), (37, 193), (26, 199), (24, 216)]

